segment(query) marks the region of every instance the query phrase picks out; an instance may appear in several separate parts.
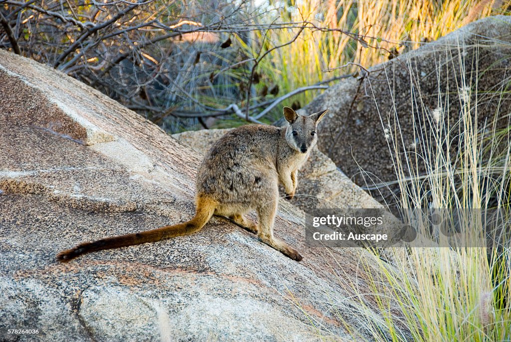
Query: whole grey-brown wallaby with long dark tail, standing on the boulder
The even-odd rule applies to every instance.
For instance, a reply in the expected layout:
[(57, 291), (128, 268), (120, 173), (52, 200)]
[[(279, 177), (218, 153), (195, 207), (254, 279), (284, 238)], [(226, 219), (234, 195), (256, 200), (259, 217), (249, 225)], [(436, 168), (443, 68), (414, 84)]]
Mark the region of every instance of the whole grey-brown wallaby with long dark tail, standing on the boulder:
[[(302, 257), (296, 250), (273, 237), (278, 183), (284, 185), (286, 198), (293, 198), (297, 170), (316, 144), (316, 126), (326, 112), (300, 116), (291, 108), (284, 107), (285, 128), (247, 125), (220, 138), (207, 152), (197, 172), (196, 213), (190, 221), (80, 243), (60, 252), (57, 259), (65, 262), (89, 252), (193, 234), (204, 227), (213, 215), (222, 215), (258, 234), (268, 246), (300, 261)], [(253, 209), (257, 211), (259, 225), (245, 217)]]

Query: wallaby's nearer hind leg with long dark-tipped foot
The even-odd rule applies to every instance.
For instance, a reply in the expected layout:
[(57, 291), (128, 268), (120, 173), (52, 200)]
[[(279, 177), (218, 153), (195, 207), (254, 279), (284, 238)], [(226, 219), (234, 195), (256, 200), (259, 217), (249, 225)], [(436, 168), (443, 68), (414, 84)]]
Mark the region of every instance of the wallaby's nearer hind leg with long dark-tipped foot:
[(257, 213), (259, 216), (259, 239), (291, 259), (301, 261), (302, 257), (295, 249), (287, 245), (286, 242), (273, 237), (273, 222), (277, 213), (277, 201), (271, 201), (258, 208)]

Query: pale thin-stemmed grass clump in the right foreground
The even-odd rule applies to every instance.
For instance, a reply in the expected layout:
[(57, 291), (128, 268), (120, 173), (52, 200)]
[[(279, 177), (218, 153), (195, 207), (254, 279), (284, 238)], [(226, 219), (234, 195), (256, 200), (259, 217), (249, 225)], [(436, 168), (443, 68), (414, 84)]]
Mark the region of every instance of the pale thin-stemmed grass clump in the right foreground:
[[(496, 129), (494, 122), (478, 125), (477, 77), (468, 80), (463, 75), (464, 70), (458, 77), (461, 110), (449, 113), (458, 116), (457, 127), (447, 124), (449, 101), (439, 99), (433, 111), (419, 103), (413, 115), (427, 123), (428, 133), (417, 128), (417, 136), (423, 137), (420, 145), (409, 147), (414, 153), (406, 154), (404, 162), (394, 160), (394, 165), (401, 208), (471, 209), (461, 211), (460, 228), (479, 234), (470, 245), (463, 241), (454, 242), (450, 248), (389, 249), (384, 257), (391, 256), (390, 265), (379, 253), (366, 261), (367, 270), (376, 264), (380, 271), (368, 272), (378, 303), (376, 313), (362, 296), (359, 302), (377, 341), (405, 341), (410, 336), (414, 341), (428, 342), (511, 340), (511, 135), (509, 128)], [(506, 96), (508, 87), (509, 80), (503, 79), (502, 89), (495, 95)], [(455, 95), (451, 94), (451, 101)], [(507, 120), (509, 125), (509, 117)], [(400, 134), (398, 129), (389, 141), (392, 155), (402, 149)], [(453, 155), (451, 143), (455, 140), (460, 141), (460, 148)], [(416, 158), (428, 165), (426, 175), (414, 172), (413, 167), (408, 171)], [(487, 237), (482, 233), (486, 221), (482, 213), (491, 209), (499, 209), (499, 224), (506, 233), (496, 236), (501, 242), (496, 248), (484, 247)], [(446, 218), (455, 221), (454, 217)], [(415, 227), (421, 230), (429, 226), (419, 222)], [(356, 292), (356, 284), (352, 285)]]

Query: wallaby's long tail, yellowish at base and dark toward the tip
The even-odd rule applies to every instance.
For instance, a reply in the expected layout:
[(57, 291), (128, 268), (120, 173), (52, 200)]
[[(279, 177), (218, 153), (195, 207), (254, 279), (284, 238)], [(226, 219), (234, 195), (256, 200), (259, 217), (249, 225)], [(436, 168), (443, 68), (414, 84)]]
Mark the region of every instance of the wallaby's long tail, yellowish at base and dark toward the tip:
[(190, 221), (153, 230), (146, 230), (135, 234), (111, 236), (97, 241), (83, 242), (72, 249), (68, 249), (57, 254), (57, 260), (60, 262), (67, 262), (85, 253), (139, 245), (140, 243), (154, 242), (170, 237), (193, 234), (202, 229), (202, 227), (210, 221), (214, 212), (215, 203), (199, 198), (197, 201), (197, 212)]

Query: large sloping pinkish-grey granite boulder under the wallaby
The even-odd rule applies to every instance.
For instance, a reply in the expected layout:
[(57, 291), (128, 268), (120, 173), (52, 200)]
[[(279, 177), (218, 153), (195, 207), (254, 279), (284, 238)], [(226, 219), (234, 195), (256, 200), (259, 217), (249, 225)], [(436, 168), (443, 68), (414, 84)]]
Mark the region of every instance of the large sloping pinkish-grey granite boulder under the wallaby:
[(384, 320), (371, 255), (307, 246), (304, 212), (285, 201), (275, 235), (299, 263), (222, 217), (194, 235), (56, 261), (84, 240), (192, 217), (199, 162), (98, 91), (0, 51), (0, 339), (371, 339), (365, 317)]

